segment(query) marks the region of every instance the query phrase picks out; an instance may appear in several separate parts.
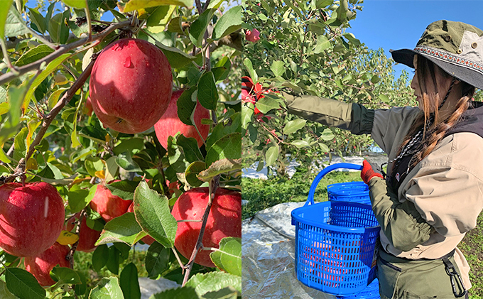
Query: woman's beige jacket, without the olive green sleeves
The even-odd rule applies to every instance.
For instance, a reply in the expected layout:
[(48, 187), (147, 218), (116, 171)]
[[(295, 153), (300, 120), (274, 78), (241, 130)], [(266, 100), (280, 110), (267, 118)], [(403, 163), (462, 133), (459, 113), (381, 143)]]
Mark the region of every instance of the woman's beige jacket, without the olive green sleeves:
[[(418, 111), (417, 107), (376, 110), (371, 136), (389, 160), (396, 157)], [(388, 173), (391, 167), (388, 165)], [(398, 198), (400, 202), (413, 202), (435, 232), (410, 251), (394, 248), (381, 234), (385, 251), (407, 259), (438, 259), (455, 249), (466, 232), (476, 227), (483, 209), (483, 138), (473, 133), (444, 138), (408, 173), (398, 189)], [(455, 260), (465, 286), (471, 288), (470, 266), (459, 249)]]

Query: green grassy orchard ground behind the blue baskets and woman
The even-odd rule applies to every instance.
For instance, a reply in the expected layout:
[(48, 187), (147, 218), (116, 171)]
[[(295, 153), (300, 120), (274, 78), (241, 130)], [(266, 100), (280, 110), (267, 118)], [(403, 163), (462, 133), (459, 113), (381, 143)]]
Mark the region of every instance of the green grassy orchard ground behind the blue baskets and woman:
[[(364, 158), (374, 161), (379, 165), (386, 161), (384, 155), (350, 156), (344, 157), (344, 162), (361, 164)], [(332, 163), (340, 163), (340, 157), (333, 157)], [(298, 163), (292, 162), (288, 166), (287, 173), (290, 178), (277, 178), (267, 176), (266, 168), (260, 172), (256, 171), (256, 165), (243, 169), (241, 179), (242, 190), (241, 198), (244, 201), (241, 215), (242, 219), (253, 217), (256, 212), (265, 210), (268, 207), (281, 204), (283, 202), (305, 202), (308, 191), (318, 170), (309, 171), (308, 168), (299, 167)], [(360, 172), (351, 171), (332, 171), (325, 175), (315, 190), (315, 198), (321, 201), (327, 200), (327, 185), (335, 183), (361, 181)], [(276, 187), (275, 187), (276, 186)], [(291, 222), (291, 219), (286, 219)], [(470, 279), (472, 288), (469, 290), (470, 298), (483, 298), (483, 213), (477, 219), (477, 227), (468, 232), (458, 248), (465, 254), (470, 263)]]

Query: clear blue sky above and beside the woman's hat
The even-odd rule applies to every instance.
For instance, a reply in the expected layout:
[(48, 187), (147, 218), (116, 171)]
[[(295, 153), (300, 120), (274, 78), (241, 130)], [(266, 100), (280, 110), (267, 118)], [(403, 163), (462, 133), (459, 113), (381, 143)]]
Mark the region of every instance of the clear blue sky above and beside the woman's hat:
[[(350, 22), (353, 33), (371, 49), (414, 48), (426, 26), (433, 21), (469, 23), (483, 30), (482, 0), (366, 0), (357, 18)], [(396, 76), (405, 65), (395, 65)]]

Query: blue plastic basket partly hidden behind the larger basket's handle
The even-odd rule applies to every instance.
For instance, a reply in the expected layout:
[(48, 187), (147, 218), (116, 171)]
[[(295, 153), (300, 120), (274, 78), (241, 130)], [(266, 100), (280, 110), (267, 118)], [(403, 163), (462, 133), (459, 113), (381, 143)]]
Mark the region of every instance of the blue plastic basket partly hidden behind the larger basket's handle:
[(337, 183), (327, 186), (329, 200), (360, 202), (371, 205), (369, 186), (364, 182)]

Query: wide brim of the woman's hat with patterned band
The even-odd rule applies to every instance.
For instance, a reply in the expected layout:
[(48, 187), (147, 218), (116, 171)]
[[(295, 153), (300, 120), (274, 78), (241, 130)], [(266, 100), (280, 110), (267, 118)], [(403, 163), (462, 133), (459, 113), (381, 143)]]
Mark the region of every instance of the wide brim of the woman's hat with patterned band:
[(460, 65), (452, 64), (445, 60), (440, 60), (425, 53), (418, 53), (411, 49), (389, 50), (389, 52), (391, 52), (394, 61), (402, 63), (403, 65), (407, 65), (411, 68), (414, 68), (414, 55), (421, 55), (433, 62), (435, 65), (438, 65), (438, 67), (441, 67), (448, 74), (456, 77), (458, 80), (467, 82), (468, 84), (477, 87), (478, 89), (483, 89), (483, 75), (479, 72), (475, 72), (474, 70), (470, 70)]

